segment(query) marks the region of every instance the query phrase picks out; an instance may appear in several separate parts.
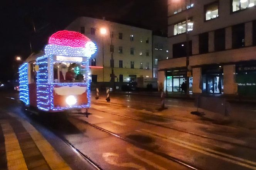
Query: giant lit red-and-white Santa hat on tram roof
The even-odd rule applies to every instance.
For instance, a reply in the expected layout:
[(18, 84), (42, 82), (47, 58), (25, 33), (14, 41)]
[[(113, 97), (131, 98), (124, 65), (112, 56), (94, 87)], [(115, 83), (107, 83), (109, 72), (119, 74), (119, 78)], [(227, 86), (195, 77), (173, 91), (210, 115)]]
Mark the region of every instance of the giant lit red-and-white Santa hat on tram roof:
[(49, 38), (45, 46), (46, 55), (91, 57), (97, 51), (95, 43), (74, 31), (58, 31)]

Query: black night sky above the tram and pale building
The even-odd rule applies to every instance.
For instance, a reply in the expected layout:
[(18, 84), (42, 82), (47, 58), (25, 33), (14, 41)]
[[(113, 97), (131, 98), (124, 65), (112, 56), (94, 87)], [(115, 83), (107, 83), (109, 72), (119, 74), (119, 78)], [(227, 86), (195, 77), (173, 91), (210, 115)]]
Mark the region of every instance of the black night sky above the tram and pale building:
[[(48, 37), (86, 16), (167, 31), (167, 0), (4, 0), (1, 2), (0, 80), (17, 72), (15, 55), (39, 52)], [(35, 32), (33, 23), (35, 25)]]

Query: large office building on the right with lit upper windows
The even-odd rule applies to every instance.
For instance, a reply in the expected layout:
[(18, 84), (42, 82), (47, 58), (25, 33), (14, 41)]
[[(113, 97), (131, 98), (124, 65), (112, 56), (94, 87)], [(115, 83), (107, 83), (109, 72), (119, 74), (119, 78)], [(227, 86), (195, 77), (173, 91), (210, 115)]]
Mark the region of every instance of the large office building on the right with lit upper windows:
[(168, 48), (165, 91), (256, 95), (256, 0), (168, 0)]

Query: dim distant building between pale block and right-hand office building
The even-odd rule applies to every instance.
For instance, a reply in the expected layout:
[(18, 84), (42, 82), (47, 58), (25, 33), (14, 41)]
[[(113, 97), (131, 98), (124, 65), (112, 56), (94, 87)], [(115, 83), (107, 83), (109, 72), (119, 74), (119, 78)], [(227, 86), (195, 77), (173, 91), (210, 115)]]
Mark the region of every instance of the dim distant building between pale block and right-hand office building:
[(153, 35), (153, 78), (158, 77), (158, 61), (168, 59), (167, 37)]

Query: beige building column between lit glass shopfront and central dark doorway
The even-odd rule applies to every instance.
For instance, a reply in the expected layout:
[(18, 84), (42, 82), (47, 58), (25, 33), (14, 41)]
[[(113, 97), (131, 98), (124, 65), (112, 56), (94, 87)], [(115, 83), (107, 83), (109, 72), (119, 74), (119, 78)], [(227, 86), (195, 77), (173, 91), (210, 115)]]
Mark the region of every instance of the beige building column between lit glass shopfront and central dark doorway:
[(193, 68), (193, 85), (192, 92), (193, 93), (202, 93), (202, 68)]

